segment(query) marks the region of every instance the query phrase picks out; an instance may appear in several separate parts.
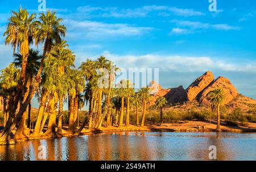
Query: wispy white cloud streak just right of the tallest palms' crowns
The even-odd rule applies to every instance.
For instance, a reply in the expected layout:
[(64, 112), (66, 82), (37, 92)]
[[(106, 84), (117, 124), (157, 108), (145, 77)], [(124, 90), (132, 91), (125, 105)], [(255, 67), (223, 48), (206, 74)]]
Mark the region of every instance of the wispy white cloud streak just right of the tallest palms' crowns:
[(85, 37), (102, 38), (102, 36), (139, 36), (154, 29), (151, 27), (131, 26), (130, 24), (112, 24), (90, 20), (77, 21), (67, 19), (64, 20), (64, 23), (69, 29), (67, 36), (75, 39), (83, 39)]

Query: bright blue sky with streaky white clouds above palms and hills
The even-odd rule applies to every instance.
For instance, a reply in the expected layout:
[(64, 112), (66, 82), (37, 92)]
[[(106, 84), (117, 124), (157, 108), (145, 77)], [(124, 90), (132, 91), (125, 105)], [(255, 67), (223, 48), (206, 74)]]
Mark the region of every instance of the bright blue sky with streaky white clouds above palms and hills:
[[(0, 35), (11, 10), (38, 13), (37, 0), (0, 2)], [(76, 66), (104, 54), (121, 68), (159, 68), (160, 85), (186, 88), (207, 70), (256, 99), (256, 2), (217, 0), (46, 0), (68, 32)], [(41, 50), (41, 48), (39, 49)], [(0, 69), (12, 60), (0, 37)]]

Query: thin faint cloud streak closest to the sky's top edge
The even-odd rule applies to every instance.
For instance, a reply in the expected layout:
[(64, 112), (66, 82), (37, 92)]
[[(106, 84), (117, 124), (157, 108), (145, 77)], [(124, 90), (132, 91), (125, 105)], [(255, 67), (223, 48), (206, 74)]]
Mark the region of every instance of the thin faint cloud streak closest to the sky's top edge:
[(77, 12), (85, 13), (92, 17), (105, 17), (105, 18), (141, 18), (149, 16), (151, 12), (157, 12), (158, 15), (169, 16), (201, 16), (205, 15), (204, 12), (196, 11), (193, 9), (179, 9), (170, 6), (143, 6), (134, 9), (121, 9), (118, 7), (93, 7), (84, 6), (78, 7)]

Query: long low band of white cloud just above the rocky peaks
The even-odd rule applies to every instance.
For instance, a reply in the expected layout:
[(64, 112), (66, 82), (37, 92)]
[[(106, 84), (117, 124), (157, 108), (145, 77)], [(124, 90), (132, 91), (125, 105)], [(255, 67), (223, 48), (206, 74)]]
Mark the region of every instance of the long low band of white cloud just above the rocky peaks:
[(168, 54), (118, 55), (108, 51), (103, 53), (120, 68), (159, 68), (170, 72), (205, 72), (217, 70), (224, 72), (254, 72), (254, 64), (232, 64), (224, 60), (204, 56), (172, 56)]

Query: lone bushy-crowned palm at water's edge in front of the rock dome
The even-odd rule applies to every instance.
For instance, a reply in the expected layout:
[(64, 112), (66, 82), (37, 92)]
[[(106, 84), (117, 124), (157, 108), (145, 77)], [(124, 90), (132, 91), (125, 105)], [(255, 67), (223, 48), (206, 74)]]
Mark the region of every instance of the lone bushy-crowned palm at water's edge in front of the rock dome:
[(210, 103), (217, 111), (217, 128), (216, 131), (221, 131), (220, 129), (220, 106), (224, 103), (225, 95), (222, 89), (214, 89), (208, 93), (208, 98)]

